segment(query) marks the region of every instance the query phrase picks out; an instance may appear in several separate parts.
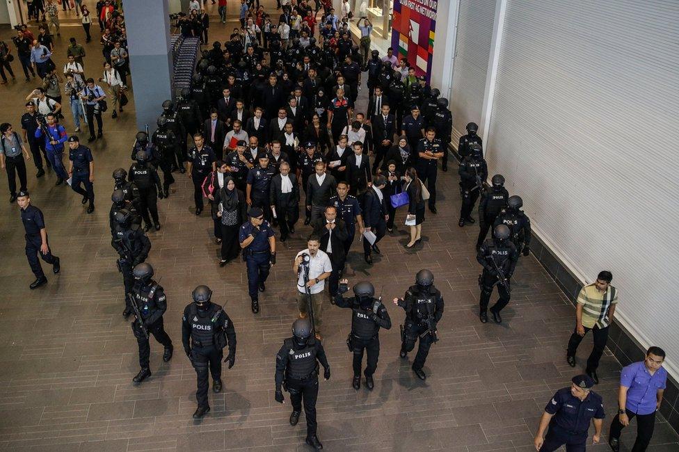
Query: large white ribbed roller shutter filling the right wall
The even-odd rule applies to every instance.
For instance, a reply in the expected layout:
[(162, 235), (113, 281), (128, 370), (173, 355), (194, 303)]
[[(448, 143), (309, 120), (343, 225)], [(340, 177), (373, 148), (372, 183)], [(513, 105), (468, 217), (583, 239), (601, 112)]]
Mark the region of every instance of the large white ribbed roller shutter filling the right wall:
[(678, 43), (676, 0), (508, 0), (486, 146), (576, 275), (613, 272), (616, 316), (675, 377)]

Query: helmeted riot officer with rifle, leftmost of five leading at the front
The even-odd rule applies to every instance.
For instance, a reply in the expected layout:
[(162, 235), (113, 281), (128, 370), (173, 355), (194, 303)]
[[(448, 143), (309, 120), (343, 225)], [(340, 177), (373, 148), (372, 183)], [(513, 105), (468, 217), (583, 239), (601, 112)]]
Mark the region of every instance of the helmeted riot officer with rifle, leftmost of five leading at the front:
[(134, 267), (132, 275), (135, 282), (129, 295), (131, 297), (130, 303), (134, 303), (137, 308), (134, 310), (135, 317), (137, 313), (140, 317), (135, 318), (131, 327), (139, 346), (139, 366), (141, 366), (141, 371), (132, 378), (132, 381), (141, 383), (151, 376), (151, 369), (149, 368), (150, 334), (153, 334), (153, 337), (165, 347), (163, 352), (164, 362), (170, 361), (174, 347), (163, 326), (163, 314), (168, 309), (167, 297), (165, 291), (163, 291), (163, 286), (152, 280), (153, 267), (146, 263), (138, 264)]

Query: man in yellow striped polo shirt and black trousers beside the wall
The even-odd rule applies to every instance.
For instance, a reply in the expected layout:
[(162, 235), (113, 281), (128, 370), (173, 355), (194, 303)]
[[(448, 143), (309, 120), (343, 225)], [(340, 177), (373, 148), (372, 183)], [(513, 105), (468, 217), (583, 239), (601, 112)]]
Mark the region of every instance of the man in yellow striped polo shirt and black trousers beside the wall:
[(598, 384), (596, 368), (604, 353), (608, 330), (613, 321), (613, 313), (618, 302), (618, 291), (611, 285), (613, 275), (609, 271), (602, 271), (596, 277), (596, 282), (587, 284), (577, 296), (577, 308), (575, 309), (575, 332), (568, 341), (566, 361), (571, 367), (575, 367), (575, 350), (580, 341), (589, 330), (594, 336), (594, 348), (587, 359), (585, 372)]

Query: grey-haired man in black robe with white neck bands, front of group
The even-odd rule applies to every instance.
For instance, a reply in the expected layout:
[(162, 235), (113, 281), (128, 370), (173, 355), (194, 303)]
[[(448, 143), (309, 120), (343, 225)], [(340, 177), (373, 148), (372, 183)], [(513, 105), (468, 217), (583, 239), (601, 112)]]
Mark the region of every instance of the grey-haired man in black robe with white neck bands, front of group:
[[(280, 144), (278, 147), (280, 151)], [(290, 173), (287, 161), (281, 161), (278, 169), (280, 172), (271, 179), (269, 204), (278, 219), (280, 241), (285, 242), (289, 234), (295, 232), (299, 218), (299, 186), (294, 173)]]

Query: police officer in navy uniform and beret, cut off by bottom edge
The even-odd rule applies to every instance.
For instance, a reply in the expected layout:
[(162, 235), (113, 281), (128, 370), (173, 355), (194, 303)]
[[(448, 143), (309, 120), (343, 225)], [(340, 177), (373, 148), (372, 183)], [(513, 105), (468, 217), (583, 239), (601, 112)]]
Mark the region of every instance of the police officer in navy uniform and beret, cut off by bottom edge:
[[(570, 387), (559, 389), (545, 407), (534, 440), (539, 452), (556, 451), (564, 444), (567, 452), (584, 452), (590, 421), (595, 429), (592, 443), (600, 440), (605, 414), (601, 396), (591, 390), (594, 380), (578, 375), (571, 381)], [(543, 439), (548, 426), (547, 437)]]

